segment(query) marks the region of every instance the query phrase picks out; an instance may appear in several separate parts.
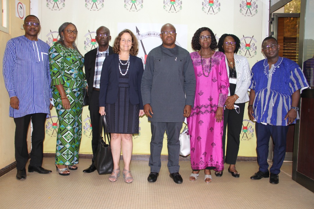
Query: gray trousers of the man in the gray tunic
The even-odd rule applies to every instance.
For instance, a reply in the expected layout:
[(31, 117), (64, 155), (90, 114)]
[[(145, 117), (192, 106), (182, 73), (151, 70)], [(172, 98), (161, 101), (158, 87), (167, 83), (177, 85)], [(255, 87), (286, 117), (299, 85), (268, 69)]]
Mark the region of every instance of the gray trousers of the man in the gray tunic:
[(160, 154), (166, 131), (168, 142), (168, 170), (170, 173), (179, 172), (180, 141), (179, 135), (182, 123), (151, 122), (152, 139), (150, 141), (150, 172), (159, 173), (161, 167)]

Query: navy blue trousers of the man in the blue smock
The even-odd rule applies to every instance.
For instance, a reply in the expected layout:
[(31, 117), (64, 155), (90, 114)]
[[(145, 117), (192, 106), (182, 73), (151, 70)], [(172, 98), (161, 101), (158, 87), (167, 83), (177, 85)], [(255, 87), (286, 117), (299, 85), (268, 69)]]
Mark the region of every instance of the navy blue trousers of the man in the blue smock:
[(288, 133), (288, 126), (272, 126), (256, 123), (256, 137), (257, 137), (257, 163), (259, 170), (262, 172), (268, 171), (268, 144), (270, 136), (273, 137), (273, 165), (269, 169), (272, 174), (279, 174), (284, 156), (286, 154), (286, 139)]

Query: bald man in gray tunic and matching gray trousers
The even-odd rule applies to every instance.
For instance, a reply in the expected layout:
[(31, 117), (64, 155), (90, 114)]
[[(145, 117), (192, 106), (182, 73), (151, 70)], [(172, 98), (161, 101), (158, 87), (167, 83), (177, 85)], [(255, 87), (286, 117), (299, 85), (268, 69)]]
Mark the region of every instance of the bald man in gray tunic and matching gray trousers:
[(147, 56), (142, 78), (144, 112), (151, 122), (149, 182), (159, 175), (160, 154), (164, 133), (168, 137), (168, 170), (170, 177), (180, 184), (179, 135), (184, 117), (189, 117), (194, 105), (195, 75), (190, 54), (176, 45), (176, 29), (172, 24), (161, 27), (162, 45)]

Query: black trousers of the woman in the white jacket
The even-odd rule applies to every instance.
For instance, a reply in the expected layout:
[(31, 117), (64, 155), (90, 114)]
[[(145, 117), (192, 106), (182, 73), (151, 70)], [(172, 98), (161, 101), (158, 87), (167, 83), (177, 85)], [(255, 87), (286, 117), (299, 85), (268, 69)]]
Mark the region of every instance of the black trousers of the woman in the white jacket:
[[(238, 103), (235, 105), (239, 106), (239, 108), (224, 110), (224, 134), (222, 135), (224, 160), (226, 163), (232, 165), (236, 164), (236, 159), (238, 157), (245, 103)], [(227, 149), (225, 152), (227, 126)]]

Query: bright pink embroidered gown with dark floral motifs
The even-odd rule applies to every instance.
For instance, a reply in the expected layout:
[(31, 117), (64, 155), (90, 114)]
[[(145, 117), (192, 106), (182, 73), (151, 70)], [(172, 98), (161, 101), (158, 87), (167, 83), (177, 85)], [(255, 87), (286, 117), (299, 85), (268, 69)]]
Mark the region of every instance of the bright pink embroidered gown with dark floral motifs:
[[(202, 58), (198, 52), (191, 54), (196, 91), (194, 107), (187, 118), (191, 143), (191, 167), (202, 170), (208, 166), (215, 171), (224, 170), (222, 134), (224, 121), (216, 122), (217, 107), (224, 107), (228, 95), (229, 79), (225, 64), (225, 55), (215, 52), (210, 58)], [(211, 69), (209, 67), (211, 66)], [(206, 77), (209, 75), (208, 77)]]

